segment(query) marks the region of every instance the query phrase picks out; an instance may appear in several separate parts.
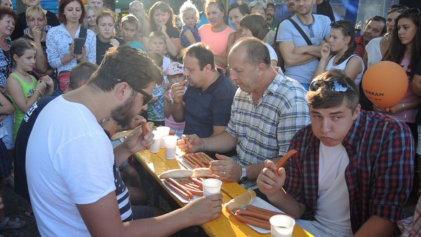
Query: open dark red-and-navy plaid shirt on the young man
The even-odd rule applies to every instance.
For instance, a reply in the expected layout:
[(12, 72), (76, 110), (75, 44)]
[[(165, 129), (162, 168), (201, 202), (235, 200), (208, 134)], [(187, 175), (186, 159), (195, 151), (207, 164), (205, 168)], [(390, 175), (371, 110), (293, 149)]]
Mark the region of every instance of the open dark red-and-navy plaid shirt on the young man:
[[(286, 166), (284, 189), (314, 220), (319, 185), (319, 144), (309, 125), (294, 136), (290, 149), (298, 154)], [(377, 215), (396, 223), (403, 218), (413, 182), (414, 142), (406, 123), (392, 116), (361, 110), (342, 141), (349, 156), (345, 180), (349, 192), (352, 232)]]

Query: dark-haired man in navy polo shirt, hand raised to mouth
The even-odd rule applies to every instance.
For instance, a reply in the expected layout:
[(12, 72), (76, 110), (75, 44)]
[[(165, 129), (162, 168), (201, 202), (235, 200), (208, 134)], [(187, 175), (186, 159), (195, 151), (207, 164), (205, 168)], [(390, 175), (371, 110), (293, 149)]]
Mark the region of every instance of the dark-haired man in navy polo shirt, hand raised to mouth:
[(183, 57), (189, 86), (171, 87), (171, 114), (176, 122), (185, 121), (185, 134), (210, 137), (225, 131), (231, 115), (236, 88), (220, 69), (215, 68), (212, 51), (203, 43), (186, 48)]

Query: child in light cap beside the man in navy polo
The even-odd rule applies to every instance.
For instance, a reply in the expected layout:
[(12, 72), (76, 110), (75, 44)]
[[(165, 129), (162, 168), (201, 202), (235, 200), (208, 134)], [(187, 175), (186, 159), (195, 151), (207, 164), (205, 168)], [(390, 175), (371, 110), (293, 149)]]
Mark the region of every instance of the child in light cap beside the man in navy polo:
[[(173, 86), (174, 83), (181, 83), (185, 80), (182, 64), (180, 64), (180, 62), (171, 62), (171, 65), (166, 69), (166, 75), (168, 79), (168, 90), (165, 92), (163, 102), (165, 126), (170, 127), (171, 130), (175, 132), (175, 135), (178, 135), (178, 137), (181, 138), (181, 135), (184, 132), (185, 122), (177, 123), (171, 115), (171, 103), (173, 100), (173, 98), (171, 98), (171, 86)], [(187, 85), (185, 87), (185, 90), (186, 89)]]

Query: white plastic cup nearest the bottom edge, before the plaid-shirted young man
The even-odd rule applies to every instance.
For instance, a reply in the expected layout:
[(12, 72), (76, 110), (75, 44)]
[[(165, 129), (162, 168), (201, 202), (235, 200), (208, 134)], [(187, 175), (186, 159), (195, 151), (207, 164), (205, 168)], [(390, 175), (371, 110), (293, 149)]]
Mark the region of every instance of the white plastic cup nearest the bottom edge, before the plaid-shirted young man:
[(272, 237), (293, 236), (295, 219), (288, 215), (274, 215), (270, 217), (270, 233)]

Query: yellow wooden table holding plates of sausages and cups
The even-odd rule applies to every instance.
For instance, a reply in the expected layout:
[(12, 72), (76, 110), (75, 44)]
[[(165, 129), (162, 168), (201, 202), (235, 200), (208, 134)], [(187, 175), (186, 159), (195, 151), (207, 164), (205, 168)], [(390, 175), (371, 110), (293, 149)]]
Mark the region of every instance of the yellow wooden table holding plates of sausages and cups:
[[(177, 148), (177, 154), (184, 153)], [(145, 149), (135, 154), (135, 158), (137, 158), (138, 161), (142, 163), (142, 165), (145, 167), (145, 170), (149, 172), (149, 175), (154, 177), (156, 182), (160, 184), (161, 187), (163, 187), (163, 184), (161, 179), (159, 179), (159, 175), (161, 175), (161, 173), (166, 170), (180, 168), (177, 160), (167, 160), (165, 158), (164, 149), (160, 149), (159, 153), (156, 154), (151, 153), (149, 150)], [(163, 187), (163, 189), (167, 191), (167, 193), (174, 199), (174, 201), (178, 203), (178, 205), (180, 205), (180, 207), (186, 205), (186, 203), (182, 203), (178, 198), (176, 198), (171, 193), (171, 191), (168, 191), (165, 187)], [(221, 189), (223, 203), (227, 203), (232, 198), (246, 191), (246, 189), (241, 187), (241, 185), (237, 184), (236, 182), (224, 182)], [(239, 222), (239, 220), (237, 220), (234, 215), (227, 212), (225, 208), (222, 208), (222, 215), (220, 215), (220, 217), (202, 224), (201, 227), (208, 234), (208, 236), (270, 236), (270, 233), (258, 233), (257, 231), (251, 229), (250, 226), (244, 224), (243, 222)], [(300, 226), (295, 225), (293, 237), (302, 236), (312, 235), (307, 233), (307, 231), (303, 230)]]

